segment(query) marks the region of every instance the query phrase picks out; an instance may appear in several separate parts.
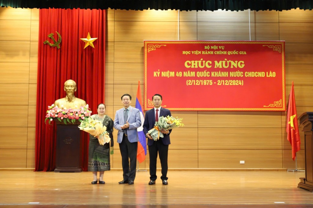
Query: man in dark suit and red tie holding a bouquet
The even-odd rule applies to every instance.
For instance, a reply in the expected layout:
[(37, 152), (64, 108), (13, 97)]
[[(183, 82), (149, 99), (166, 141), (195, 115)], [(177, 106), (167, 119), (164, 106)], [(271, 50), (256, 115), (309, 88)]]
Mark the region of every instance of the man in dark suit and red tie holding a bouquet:
[(153, 109), (150, 109), (146, 112), (145, 121), (143, 122), (143, 132), (148, 138), (148, 149), (149, 149), (149, 158), (150, 158), (150, 181), (149, 185), (154, 185), (156, 182), (156, 158), (159, 153), (161, 167), (162, 167), (162, 184), (167, 185), (167, 153), (168, 145), (170, 142), (170, 133), (172, 130), (162, 130), (161, 132), (164, 135), (164, 138), (160, 137), (159, 140), (154, 141), (151, 135), (148, 133), (150, 129), (154, 127), (156, 121), (159, 120), (159, 117), (166, 117), (167, 115), (171, 116), (171, 111), (161, 107), (162, 104), (162, 95), (155, 94), (152, 96), (152, 103), (154, 105)]

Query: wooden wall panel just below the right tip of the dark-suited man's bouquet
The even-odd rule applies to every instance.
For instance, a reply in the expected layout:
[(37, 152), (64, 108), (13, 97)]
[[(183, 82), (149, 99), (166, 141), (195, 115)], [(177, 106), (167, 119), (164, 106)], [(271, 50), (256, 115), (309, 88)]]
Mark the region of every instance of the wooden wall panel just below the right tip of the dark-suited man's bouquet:
[(171, 132), (171, 150), (198, 150), (198, 128), (176, 128)]

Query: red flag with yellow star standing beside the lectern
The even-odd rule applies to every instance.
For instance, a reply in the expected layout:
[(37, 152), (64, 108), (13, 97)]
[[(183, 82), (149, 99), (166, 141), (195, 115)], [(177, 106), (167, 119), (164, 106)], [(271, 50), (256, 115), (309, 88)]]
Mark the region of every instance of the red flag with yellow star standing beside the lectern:
[(292, 160), (295, 160), (295, 153), (300, 150), (300, 135), (298, 127), (297, 110), (295, 108), (295, 92), (293, 81), (289, 95), (288, 110), (287, 110), (287, 140), (291, 144)]

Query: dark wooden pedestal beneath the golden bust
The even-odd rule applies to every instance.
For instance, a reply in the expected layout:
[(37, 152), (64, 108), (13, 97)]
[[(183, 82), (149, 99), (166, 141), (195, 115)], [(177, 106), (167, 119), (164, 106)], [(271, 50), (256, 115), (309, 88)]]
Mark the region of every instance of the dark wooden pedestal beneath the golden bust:
[(56, 160), (54, 172), (81, 172), (80, 129), (78, 125), (64, 124), (54, 119), (57, 125)]

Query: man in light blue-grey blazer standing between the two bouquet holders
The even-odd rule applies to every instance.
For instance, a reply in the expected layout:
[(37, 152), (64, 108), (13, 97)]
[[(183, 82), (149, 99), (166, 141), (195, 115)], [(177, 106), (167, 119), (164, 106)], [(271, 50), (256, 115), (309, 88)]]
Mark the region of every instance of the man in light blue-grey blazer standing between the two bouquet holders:
[[(124, 108), (116, 111), (114, 128), (118, 130), (117, 143), (122, 155), (123, 180), (119, 184), (134, 184), (138, 148), (137, 128), (141, 126), (139, 109), (131, 107), (131, 95), (123, 94)], [(129, 159), (128, 159), (129, 158)]]

